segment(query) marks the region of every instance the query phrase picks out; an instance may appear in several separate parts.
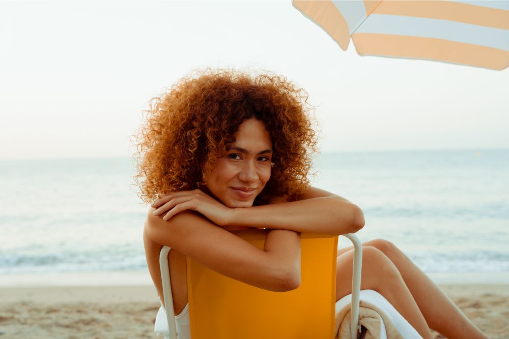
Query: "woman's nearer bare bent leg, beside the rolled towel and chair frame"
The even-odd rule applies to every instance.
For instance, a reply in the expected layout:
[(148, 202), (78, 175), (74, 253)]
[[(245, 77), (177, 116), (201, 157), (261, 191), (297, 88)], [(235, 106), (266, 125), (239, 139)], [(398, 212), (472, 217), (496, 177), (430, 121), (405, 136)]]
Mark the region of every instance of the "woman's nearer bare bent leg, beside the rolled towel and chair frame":
[[(352, 291), (352, 260), (352, 250), (337, 257), (336, 301)], [(430, 328), (400, 272), (374, 247), (363, 248), (360, 284), (363, 290), (375, 290), (382, 294), (423, 338), (431, 338)]]

